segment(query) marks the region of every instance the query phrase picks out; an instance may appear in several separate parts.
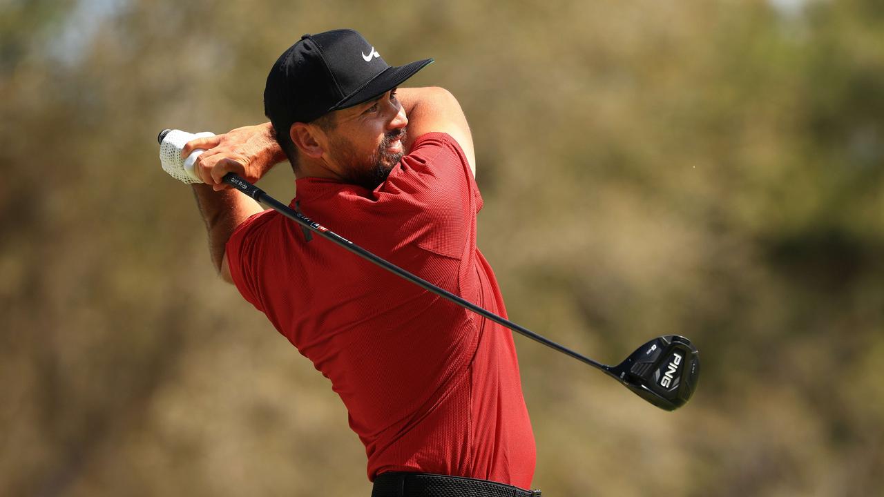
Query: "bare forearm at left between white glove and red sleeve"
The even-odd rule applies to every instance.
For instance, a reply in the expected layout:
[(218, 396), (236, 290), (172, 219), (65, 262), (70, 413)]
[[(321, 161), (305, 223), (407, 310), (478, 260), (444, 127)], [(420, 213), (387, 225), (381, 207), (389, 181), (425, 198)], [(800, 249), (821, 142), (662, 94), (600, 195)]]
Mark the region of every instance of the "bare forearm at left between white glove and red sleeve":
[[(194, 197), (209, 234), (209, 252), (212, 264), (219, 274), (225, 276), (223, 267), (225, 245), (240, 223), (263, 208), (238, 190), (216, 192), (209, 185), (194, 185)], [(226, 279), (226, 278), (225, 278)]]

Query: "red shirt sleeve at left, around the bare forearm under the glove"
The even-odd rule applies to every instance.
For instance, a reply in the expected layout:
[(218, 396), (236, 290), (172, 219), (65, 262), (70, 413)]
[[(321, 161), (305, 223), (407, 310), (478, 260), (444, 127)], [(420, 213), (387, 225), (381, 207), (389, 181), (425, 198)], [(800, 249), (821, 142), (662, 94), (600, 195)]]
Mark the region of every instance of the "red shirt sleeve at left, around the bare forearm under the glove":
[(258, 269), (263, 256), (261, 239), (268, 222), (273, 218), (272, 213), (272, 210), (264, 210), (253, 214), (233, 230), (225, 245), (233, 284), (243, 298), (262, 312), (265, 308), (257, 277), (261, 274)]

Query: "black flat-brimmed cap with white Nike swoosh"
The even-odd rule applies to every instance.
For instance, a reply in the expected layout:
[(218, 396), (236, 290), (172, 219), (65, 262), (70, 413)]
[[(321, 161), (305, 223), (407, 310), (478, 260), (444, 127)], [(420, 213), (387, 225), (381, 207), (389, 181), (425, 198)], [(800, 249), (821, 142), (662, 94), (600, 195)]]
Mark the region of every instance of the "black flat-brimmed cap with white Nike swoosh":
[(304, 34), (268, 74), (264, 113), (274, 126), (308, 123), (396, 88), (432, 61), (393, 67), (352, 29)]

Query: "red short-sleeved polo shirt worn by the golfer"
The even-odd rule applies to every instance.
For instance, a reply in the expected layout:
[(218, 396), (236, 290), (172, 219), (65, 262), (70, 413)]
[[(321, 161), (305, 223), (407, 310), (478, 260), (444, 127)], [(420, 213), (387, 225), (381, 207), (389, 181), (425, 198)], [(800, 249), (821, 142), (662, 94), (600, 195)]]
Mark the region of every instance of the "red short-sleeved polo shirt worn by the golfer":
[[(356, 245), (507, 316), (476, 248), (482, 197), (447, 134), (424, 134), (374, 191), (297, 180), (297, 204)], [(530, 487), (535, 446), (512, 333), (273, 210), (227, 242), (232, 278), (331, 380), (365, 444), (369, 478), (417, 471)]]

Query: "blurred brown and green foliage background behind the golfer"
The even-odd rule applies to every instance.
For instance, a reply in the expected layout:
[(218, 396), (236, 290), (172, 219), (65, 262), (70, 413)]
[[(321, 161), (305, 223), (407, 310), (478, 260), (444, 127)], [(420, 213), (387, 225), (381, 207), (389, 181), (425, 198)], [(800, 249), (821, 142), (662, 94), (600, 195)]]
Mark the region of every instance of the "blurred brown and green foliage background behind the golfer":
[(411, 82), (469, 118), (510, 317), (605, 363), (701, 350), (670, 414), (517, 337), (534, 486), (884, 494), (880, 0), (0, 0), (0, 495), (370, 494), (157, 160), (263, 122), (278, 54), (335, 27), (436, 58)]

